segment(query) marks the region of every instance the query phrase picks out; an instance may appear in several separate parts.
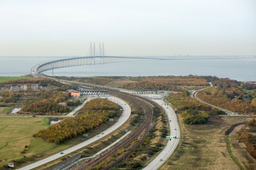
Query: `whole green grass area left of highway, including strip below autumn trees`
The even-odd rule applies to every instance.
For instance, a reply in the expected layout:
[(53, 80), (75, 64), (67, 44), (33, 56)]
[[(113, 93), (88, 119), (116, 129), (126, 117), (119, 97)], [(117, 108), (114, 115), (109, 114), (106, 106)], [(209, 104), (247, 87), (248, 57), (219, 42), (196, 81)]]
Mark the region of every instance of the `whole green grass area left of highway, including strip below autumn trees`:
[[(113, 125), (118, 119), (118, 117), (114, 117), (114, 122), (103, 123), (100, 127), (90, 130), (88, 135), (95, 136)], [(28, 157), (40, 153), (42, 157), (39, 159), (42, 159), (87, 140), (87, 138), (80, 135), (58, 145), (45, 142), (41, 138), (32, 137), (35, 132), (47, 128), (48, 123), (49, 118), (47, 117), (0, 117), (0, 160), (2, 160), (0, 166), (11, 162), (13, 159), (22, 158), (24, 155)], [(26, 145), (28, 145), (27, 151), (21, 153)], [(32, 162), (26, 164), (29, 163)], [(22, 166), (25, 166), (25, 164)]]

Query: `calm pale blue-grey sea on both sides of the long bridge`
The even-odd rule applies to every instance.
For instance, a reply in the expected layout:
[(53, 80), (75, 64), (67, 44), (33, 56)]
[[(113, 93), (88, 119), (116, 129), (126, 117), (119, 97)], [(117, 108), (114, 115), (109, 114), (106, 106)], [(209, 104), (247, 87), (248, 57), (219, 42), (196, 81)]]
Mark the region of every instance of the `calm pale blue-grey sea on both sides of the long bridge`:
[[(64, 57), (0, 57), (0, 76), (21, 76), (42, 62)], [(52, 70), (44, 71), (52, 75)], [(238, 81), (256, 81), (256, 57), (231, 59), (182, 59), (84, 65), (54, 69), (63, 76), (212, 75)]]

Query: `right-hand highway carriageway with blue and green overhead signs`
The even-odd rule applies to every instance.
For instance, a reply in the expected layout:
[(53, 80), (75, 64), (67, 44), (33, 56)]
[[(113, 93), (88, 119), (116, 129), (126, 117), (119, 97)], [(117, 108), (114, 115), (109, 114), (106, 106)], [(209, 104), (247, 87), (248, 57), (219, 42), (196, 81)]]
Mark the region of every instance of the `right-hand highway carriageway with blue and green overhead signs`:
[[(164, 104), (165, 102), (162, 100), (152, 100), (156, 103), (158, 103), (159, 105)], [(168, 117), (168, 121), (169, 121), (169, 127), (170, 127), (170, 136), (177, 136), (177, 138), (180, 138), (180, 128), (178, 125), (178, 120), (177, 120), (177, 116), (175, 111), (172, 109), (172, 107), (170, 105), (165, 106), (163, 105), (164, 110), (166, 111), (167, 117)], [(171, 120), (171, 122), (170, 122)], [(176, 130), (175, 130), (176, 128)], [(164, 147), (164, 149), (160, 152), (160, 154), (158, 154), (158, 156), (156, 156), (156, 158), (154, 160), (152, 160), (152, 162), (150, 162), (150, 164), (148, 164), (144, 170), (156, 170), (158, 169), (168, 158), (169, 156), (171, 156), (171, 154), (174, 152), (175, 148), (178, 146), (180, 139), (166, 139), (168, 140), (166, 146)], [(162, 159), (162, 161), (160, 161), (160, 159)]]

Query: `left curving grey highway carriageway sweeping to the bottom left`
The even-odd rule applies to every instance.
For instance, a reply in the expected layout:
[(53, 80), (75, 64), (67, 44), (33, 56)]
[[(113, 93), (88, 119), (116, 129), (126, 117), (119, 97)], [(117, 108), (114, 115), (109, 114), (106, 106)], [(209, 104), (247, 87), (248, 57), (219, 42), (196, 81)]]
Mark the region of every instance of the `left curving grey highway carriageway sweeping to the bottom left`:
[[(108, 97), (109, 100), (111, 101), (114, 101), (115, 99), (117, 99), (116, 97)], [(30, 164), (28, 166), (24, 166), (22, 168), (19, 168), (19, 170), (28, 170), (28, 169), (33, 169), (33, 168), (36, 168), (38, 166), (41, 166), (41, 165), (44, 165), (48, 162), (51, 162), (53, 160), (56, 160), (58, 158), (61, 158), (62, 156), (66, 156), (67, 154), (70, 154), (80, 148), (83, 148), (84, 146), (87, 146), (88, 144), (91, 144), (92, 142), (95, 142), (96, 140), (100, 139), (100, 138), (103, 138), (104, 136), (107, 136), (109, 133), (111, 133), (112, 131), (116, 130), (117, 128), (119, 128), (121, 125), (123, 125), (127, 120), (128, 118), (130, 117), (131, 115), (131, 108), (130, 106), (122, 101), (121, 99), (119, 99), (119, 105), (122, 107), (122, 115), (120, 116), (120, 118), (118, 119), (118, 121), (112, 125), (110, 128), (106, 129), (103, 131), (104, 134), (101, 134), (102, 132), (100, 132), (99, 134), (97, 134), (96, 136), (99, 136), (99, 137), (96, 137), (96, 136), (93, 136), (92, 138), (80, 143), (80, 144), (77, 144), (76, 146), (73, 146), (71, 148), (68, 148), (66, 150), (62, 150), (60, 152), (63, 152), (63, 154), (60, 154), (60, 153), (57, 153), (57, 154), (54, 154), (48, 158), (45, 158), (43, 160), (40, 160), (38, 162), (34, 162), (33, 164)]]

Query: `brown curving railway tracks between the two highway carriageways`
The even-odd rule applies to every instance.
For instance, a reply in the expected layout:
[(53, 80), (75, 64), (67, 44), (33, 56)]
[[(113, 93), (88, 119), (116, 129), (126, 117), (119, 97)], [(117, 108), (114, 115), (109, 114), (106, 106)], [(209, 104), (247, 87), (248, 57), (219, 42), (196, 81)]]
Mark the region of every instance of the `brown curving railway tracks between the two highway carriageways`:
[[(112, 92), (112, 93), (116, 93), (116, 92)], [(118, 93), (116, 93), (116, 95), (118, 95)], [(130, 144), (130, 142), (132, 142), (133, 140), (137, 139), (137, 142), (134, 143), (134, 145), (132, 147), (130, 147), (129, 150), (124, 152), (122, 155), (116, 157), (116, 160), (114, 160), (113, 162), (111, 162), (110, 164), (108, 164), (107, 166), (102, 168), (104, 170), (107, 170), (114, 164), (121, 162), (124, 158), (126, 158), (129, 154), (131, 154), (135, 150), (135, 148), (137, 148), (145, 140), (147, 133), (148, 133), (148, 129), (152, 125), (151, 122), (152, 122), (153, 113), (152, 113), (150, 107), (146, 103), (144, 103), (144, 101), (142, 101), (140, 99), (136, 99), (132, 95), (128, 95), (128, 94), (123, 95), (123, 98), (131, 100), (131, 101), (141, 105), (145, 109), (146, 115), (145, 115), (144, 121), (129, 136), (127, 136), (126, 138), (121, 140), (119, 143), (113, 145), (112, 148), (108, 152), (105, 152), (98, 158), (90, 159), (90, 161), (88, 161), (88, 162), (84, 162), (78, 166), (75, 166), (75, 167), (71, 168), (71, 170), (85, 170), (85, 169), (94, 167), (97, 164), (99, 164), (100, 162), (103, 162), (107, 158), (113, 156), (116, 152), (118, 152), (120, 149), (124, 148), (124, 146), (127, 146), (128, 144)]]

